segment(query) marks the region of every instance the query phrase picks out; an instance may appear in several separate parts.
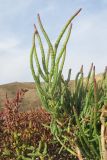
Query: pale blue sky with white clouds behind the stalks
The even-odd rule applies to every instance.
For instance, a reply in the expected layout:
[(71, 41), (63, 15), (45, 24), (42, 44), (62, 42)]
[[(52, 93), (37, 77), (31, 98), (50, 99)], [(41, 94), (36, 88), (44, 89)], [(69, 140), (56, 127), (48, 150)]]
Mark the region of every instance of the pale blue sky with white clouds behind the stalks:
[(97, 73), (103, 72), (107, 65), (107, 0), (0, 0), (0, 84), (33, 81), (29, 55), (37, 13), (54, 43), (79, 8), (82, 12), (73, 21), (63, 74), (66, 78), (72, 68), (74, 78), (83, 64), (86, 75), (91, 62)]

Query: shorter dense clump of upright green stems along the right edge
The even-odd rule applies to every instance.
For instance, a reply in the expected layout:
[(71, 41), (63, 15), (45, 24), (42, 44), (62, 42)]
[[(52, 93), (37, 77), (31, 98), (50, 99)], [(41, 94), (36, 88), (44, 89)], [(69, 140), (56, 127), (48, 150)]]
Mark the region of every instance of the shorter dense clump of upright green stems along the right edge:
[[(107, 155), (106, 141), (104, 142), (102, 137), (104, 139), (106, 135), (102, 135), (102, 125), (106, 127), (107, 68), (102, 78), (97, 81), (95, 66), (92, 64), (87, 79), (83, 78), (81, 71), (80, 77), (75, 80), (75, 85), (72, 99), (74, 100), (75, 126), (77, 126), (76, 143), (87, 160), (105, 160), (104, 155)], [(104, 108), (104, 112), (102, 108)], [(103, 113), (106, 114), (103, 115)]]

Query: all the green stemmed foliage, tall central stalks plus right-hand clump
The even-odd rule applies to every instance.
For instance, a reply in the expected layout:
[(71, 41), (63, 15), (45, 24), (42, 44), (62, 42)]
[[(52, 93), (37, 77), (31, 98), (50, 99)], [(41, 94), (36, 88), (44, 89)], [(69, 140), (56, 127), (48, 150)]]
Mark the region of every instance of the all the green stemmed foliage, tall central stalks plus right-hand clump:
[[(83, 74), (83, 66), (81, 66), (76, 75), (74, 90), (70, 90), (69, 87), (71, 71), (68, 73), (67, 80), (64, 80), (62, 75), (67, 43), (72, 30), (71, 22), (80, 11), (81, 9), (66, 23), (54, 46), (38, 15), (40, 29), (48, 44), (48, 54), (46, 56), (39, 32), (34, 25), (30, 66), (39, 97), (51, 115), (50, 131), (54, 139), (62, 146), (59, 152), (66, 150), (73, 155), (73, 159), (78, 157), (79, 159), (99, 160), (104, 157), (102, 155), (102, 123), (100, 118), (102, 107), (107, 105), (107, 68), (102, 80), (97, 81), (93, 64), (86, 79)], [(59, 51), (60, 41), (67, 29), (68, 33)], [(35, 39), (38, 39), (42, 66), (40, 66), (38, 59)], [(37, 73), (35, 73), (34, 60)], [(44, 82), (43, 85), (41, 79)]]

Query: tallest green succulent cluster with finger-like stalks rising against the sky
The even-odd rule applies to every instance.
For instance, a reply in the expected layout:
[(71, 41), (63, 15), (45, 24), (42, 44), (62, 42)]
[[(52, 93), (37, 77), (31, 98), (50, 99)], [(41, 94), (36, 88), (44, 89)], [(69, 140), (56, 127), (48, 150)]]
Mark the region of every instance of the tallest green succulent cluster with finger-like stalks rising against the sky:
[[(40, 34), (37, 30), (37, 27), (36, 25), (34, 25), (33, 45), (30, 54), (30, 67), (33, 78), (36, 83), (36, 89), (42, 101), (42, 104), (46, 108), (46, 110), (52, 115), (53, 119), (59, 118), (60, 116), (62, 116), (62, 113), (65, 113), (67, 111), (65, 107), (66, 102), (64, 98), (65, 92), (67, 91), (67, 83), (65, 84), (63, 80), (62, 70), (66, 57), (66, 47), (72, 30), (71, 22), (79, 14), (80, 11), (81, 9), (79, 9), (68, 20), (68, 22), (62, 29), (61, 33), (59, 34), (55, 42), (55, 45), (51, 43), (48, 34), (46, 33), (43, 27), (40, 16), (38, 15), (39, 27), (48, 44), (47, 54), (44, 51), (43, 43)], [(59, 51), (58, 47), (60, 41), (66, 31), (67, 35), (65, 41), (63, 42), (62, 48)], [(42, 66), (40, 65), (40, 60), (37, 54), (37, 41), (39, 43), (41, 51), (41, 53), (39, 54), (41, 54), (42, 57)], [(34, 62), (36, 62), (37, 73), (35, 73)], [(41, 83), (41, 79), (44, 83)]]

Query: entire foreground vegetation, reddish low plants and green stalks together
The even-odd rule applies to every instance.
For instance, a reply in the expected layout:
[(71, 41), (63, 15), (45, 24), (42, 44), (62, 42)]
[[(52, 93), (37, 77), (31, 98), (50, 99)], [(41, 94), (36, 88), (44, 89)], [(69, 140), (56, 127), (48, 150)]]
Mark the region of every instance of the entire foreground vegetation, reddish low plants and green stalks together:
[[(34, 25), (30, 67), (43, 108), (19, 112), (26, 90), (18, 91), (12, 101), (6, 96), (5, 107), (0, 113), (1, 159), (107, 159), (107, 67), (97, 81), (93, 63), (85, 79), (82, 65), (74, 89), (69, 86), (71, 69), (67, 80), (62, 75), (71, 23), (80, 11), (65, 24), (55, 45), (38, 15), (48, 51), (45, 53), (40, 33)], [(37, 42), (42, 60), (37, 54)]]

